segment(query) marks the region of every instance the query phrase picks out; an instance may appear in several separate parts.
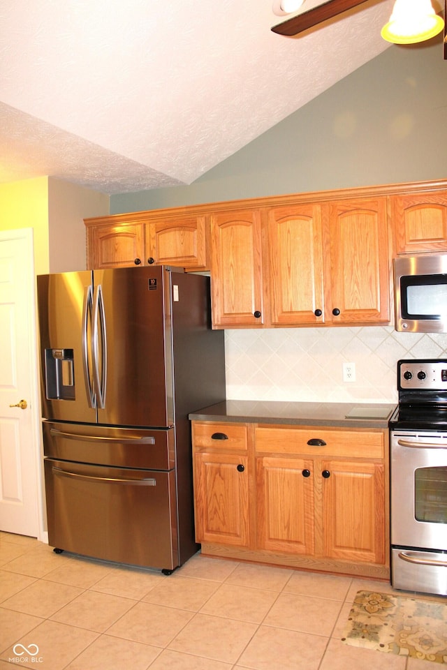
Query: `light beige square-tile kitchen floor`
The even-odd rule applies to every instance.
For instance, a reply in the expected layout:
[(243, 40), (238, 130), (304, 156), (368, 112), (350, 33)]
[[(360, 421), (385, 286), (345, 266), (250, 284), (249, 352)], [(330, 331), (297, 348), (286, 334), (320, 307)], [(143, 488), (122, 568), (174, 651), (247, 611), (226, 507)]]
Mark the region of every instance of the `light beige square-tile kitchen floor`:
[(0, 533), (0, 670), (439, 670), (340, 641), (362, 588), (392, 591), (200, 554), (165, 576)]

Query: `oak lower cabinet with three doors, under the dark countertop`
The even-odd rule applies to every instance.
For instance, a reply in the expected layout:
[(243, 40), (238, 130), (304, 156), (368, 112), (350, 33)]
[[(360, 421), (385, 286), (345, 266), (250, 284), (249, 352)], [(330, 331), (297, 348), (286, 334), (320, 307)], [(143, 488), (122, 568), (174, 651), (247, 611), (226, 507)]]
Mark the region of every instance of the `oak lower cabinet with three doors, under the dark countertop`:
[(203, 554), (389, 578), (388, 431), (226, 424), (247, 448), (209, 447), (223, 425), (193, 422)]

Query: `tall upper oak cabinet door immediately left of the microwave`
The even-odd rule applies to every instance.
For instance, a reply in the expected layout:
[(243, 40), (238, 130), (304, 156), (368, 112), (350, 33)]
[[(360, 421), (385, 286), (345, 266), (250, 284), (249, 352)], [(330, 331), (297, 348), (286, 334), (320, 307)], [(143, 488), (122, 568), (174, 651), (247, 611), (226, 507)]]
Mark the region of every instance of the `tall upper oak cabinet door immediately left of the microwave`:
[[(329, 205), (332, 322), (390, 320), (386, 198)], [(326, 315), (329, 318), (329, 315)]]

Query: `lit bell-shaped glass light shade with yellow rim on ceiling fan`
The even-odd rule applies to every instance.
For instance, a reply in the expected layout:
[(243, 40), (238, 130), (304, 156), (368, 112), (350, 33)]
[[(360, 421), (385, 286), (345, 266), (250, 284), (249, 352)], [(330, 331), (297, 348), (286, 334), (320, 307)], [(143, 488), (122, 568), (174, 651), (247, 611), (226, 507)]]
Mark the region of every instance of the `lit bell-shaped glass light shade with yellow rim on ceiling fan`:
[(394, 44), (413, 44), (430, 40), (444, 28), (431, 0), (396, 0), (389, 22), (381, 36)]

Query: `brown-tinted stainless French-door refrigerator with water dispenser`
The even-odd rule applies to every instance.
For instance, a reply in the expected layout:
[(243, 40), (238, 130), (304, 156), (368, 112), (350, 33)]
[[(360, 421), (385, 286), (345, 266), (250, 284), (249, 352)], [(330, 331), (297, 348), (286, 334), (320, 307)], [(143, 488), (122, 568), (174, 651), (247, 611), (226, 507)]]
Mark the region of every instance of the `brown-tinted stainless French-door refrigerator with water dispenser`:
[(225, 399), (210, 278), (38, 276), (49, 542), (171, 572), (194, 542), (188, 414)]

